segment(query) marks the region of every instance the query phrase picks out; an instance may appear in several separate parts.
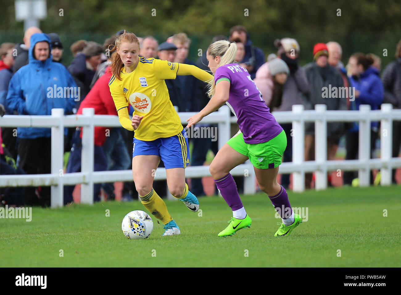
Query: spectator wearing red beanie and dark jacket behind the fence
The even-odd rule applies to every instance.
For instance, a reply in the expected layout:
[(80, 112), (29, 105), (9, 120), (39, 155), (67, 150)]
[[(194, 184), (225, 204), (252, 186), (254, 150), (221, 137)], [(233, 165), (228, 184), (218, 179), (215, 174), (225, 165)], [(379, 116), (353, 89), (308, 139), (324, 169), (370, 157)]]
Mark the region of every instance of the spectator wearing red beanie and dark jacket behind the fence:
[[(346, 110), (346, 97), (331, 96), (328, 98), (323, 94), (324, 89), (339, 89), (344, 87), (340, 72), (328, 64), (328, 48), (324, 43), (317, 43), (313, 47), (313, 62), (305, 65), (306, 77), (309, 81), (309, 92), (304, 95), (305, 110), (314, 110), (316, 104), (325, 104), (327, 110)], [(327, 88), (326, 88), (327, 87)], [(305, 124), (305, 161), (315, 159), (315, 124)], [(344, 133), (344, 123), (327, 123), (327, 158), (334, 160), (340, 137)], [(308, 189), (312, 184), (312, 173), (305, 173), (305, 187)], [(328, 176), (328, 185), (331, 179)]]

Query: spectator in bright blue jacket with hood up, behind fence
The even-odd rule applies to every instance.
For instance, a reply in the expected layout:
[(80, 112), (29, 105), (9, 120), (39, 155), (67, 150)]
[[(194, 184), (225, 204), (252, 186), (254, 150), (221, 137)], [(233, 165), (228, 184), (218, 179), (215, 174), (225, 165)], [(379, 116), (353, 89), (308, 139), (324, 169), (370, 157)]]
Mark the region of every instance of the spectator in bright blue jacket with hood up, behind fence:
[[(44, 33), (30, 37), (29, 63), (11, 78), (6, 104), (21, 115), (51, 115), (52, 108), (71, 112), (79, 88), (67, 69), (52, 61), (50, 38)], [(67, 129), (65, 129), (65, 133)], [(26, 174), (51, 173), (51, 128), (17, 128), (19, 167)], [(38, 195), (38, 197), (36, 196)], [(50, 187), (26, 189), (25, 202), (50, 205)]]

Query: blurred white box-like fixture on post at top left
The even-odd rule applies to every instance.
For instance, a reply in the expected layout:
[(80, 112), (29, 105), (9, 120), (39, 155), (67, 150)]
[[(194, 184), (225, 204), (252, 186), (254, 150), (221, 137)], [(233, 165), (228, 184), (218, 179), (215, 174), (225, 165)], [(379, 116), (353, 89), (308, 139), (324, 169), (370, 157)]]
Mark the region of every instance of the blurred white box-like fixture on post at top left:
[(24, 21), (24, 31), (39, 27), (39, 20), (47, 16), (46, 0), (15, 0), (15, 19)]

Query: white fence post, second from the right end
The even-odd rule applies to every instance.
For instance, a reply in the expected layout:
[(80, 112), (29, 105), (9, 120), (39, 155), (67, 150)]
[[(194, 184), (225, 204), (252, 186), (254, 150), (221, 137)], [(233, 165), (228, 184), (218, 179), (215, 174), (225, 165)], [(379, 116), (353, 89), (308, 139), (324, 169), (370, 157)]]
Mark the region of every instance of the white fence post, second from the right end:
[(369, 112), (371, 106), (369, 104), (361, 104), (359, 111), (363, 114), (365, 119), (359, 121), (359, 161), (365, 164), (363, 169), (359, 169), (358, 178), (359, 186), (368, 186), (370, 183), (370, 169), (367, 162), (371, 159), (371, 120), (369, 119)]

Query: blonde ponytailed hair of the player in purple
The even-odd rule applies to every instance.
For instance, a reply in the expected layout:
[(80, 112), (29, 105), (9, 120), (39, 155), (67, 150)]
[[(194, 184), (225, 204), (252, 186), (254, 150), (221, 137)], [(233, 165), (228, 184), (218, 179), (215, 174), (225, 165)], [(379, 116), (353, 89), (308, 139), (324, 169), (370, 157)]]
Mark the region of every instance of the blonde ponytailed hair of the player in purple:
[[(207, 49), (207, 52), (213, 58), (217, 56), (220, 57), (220, 62), (217, 65), (217, 67), (221, 67), (223, 65), (228, 65), (230, 63), (236, 63), (235, 55), (237, 54), (237, 44), (235, 44), (235, 42), (230, 43), (227, 40), (219, 40), (212, 43)], [(213, 81), (210, 83), (209, 86), (209, 91), (208, 91), (209, 97), (215, 95), (215, 88), (216, 84), (215, 80), (213, 79)]]

